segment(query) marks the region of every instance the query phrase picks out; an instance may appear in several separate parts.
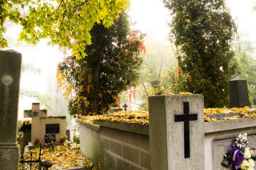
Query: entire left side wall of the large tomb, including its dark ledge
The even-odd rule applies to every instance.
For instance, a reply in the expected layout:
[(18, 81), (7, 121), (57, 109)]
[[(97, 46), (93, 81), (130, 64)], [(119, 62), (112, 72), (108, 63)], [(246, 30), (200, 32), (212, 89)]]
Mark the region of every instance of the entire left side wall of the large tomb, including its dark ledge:
[[(100, 120), (96, 123), (100, 125), (98, 132), (80, 123), (80, 147), (85, 157), (95, 161), (101, 158), (102, 170), (149, 169), (148, 125)], [(94, 142), (86, 142), (90, 138), (94, 138)], [(96, 152), (92, 148), (97, 148)], [(90, 154), (90, 149), (95, 153), (94, 156)]]

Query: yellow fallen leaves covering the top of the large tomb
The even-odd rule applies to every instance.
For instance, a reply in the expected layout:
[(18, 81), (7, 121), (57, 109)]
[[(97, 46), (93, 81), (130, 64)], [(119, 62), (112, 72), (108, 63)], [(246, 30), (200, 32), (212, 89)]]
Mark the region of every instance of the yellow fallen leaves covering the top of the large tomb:
[[(215, 118), (208, 118), (207, 115), (221, 114), (221, 113), (242, 113), (240, 115), (233, 115), (223, 118), (224, 120), (237, 119), (237, 118), (254, 118), (256, 114), (253, 113), (256, 111), (255, 108), (250, 108), (245, 106), (244, 108), (205, 108), (204, 109), (204, 117), (206, 122), (216, 121)], [(247, 113), (251, 112), (251, 113)], [(119, 111), (115, 113), (110, 113), (107, 115), (87, 115), (81, 116), (79, 118), (80, 121), (93, 124), (93, 120), (111, 120), (111, 121), (122, 121), (128, 123), (142, 123), (149, 124), (149, 112), (148, 111)], [(95, 125), (97, 126), (97, 125)]]

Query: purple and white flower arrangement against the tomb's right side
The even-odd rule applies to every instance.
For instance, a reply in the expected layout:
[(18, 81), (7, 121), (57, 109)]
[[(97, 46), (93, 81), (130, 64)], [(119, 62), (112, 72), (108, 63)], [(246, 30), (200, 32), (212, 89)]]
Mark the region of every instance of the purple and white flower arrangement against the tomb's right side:
[(248, 145), (246, 133), (235, 137), (235, 142), (228, 150), (229, 152), (224, 155), (223, 166), (227, 168), (231, 166), (238, 170), (254, 170), (256, 157), (253, 152), (254, 148)]

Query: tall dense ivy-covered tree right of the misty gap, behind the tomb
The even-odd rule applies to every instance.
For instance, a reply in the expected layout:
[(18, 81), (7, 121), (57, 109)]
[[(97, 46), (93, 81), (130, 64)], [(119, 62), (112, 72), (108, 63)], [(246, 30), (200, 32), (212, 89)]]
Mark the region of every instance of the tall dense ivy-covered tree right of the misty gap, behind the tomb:
[(223, 0), (164, 0), (174, 16), (170, 40), (175, 43), (181, 91), (203, 94), (206, 107), (228, 104), (228, 81), (234, 74), (230, 42), (235, 23)]

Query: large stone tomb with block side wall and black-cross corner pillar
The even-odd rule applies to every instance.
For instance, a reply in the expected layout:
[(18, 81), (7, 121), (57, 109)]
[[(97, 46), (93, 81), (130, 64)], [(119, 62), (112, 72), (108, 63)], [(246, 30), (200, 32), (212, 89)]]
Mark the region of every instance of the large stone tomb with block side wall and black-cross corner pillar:
[(80, 152), (101, 158), (102, 169), (226, 170), (223, 155), (239, 134), (256, 148), (256, 118), (204, 122), (202, 95), (150, 96), (149, 120), (80, 122)]

